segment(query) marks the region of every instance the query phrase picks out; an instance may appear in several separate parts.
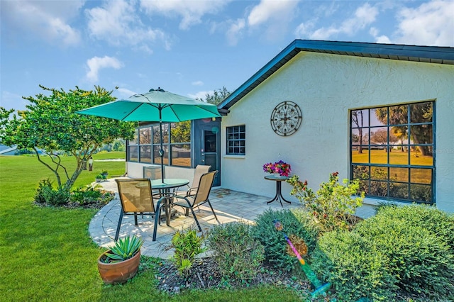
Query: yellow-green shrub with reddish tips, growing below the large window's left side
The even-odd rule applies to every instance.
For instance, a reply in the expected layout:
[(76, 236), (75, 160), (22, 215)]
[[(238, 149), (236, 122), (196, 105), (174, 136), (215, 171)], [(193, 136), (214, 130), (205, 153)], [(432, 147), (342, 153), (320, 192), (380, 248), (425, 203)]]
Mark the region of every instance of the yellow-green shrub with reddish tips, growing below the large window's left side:
[[(336, 228), (350, 229), (354, 223), (352, 219), (356, 208), (362, 206), (365, 194), (361, 192), (360, 196), (357, 195), (360, 188), (359, 181), (344, 179), (345, 186), (338, 181), (338, 172), (331, 173), (329, 181), (320, 184), (320, 189), (315, 194), (307, 186), (307, 181), (300, 181), (297, 175), (287, 179), (287, 182), (293, 186), (290, 194), (304, 203), (323, 231)], [(353, 195), (357, 197), (353, 198)]]

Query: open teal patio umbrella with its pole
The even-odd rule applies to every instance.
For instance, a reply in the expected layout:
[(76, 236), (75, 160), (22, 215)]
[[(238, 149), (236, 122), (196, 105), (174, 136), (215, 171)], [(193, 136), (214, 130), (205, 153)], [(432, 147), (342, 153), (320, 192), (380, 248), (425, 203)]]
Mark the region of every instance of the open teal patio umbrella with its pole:
[[(172, 94), (161, 88), (150, 89), (145, 94), (134, 94), (128, 99), (111, 101), (99, 106), (90, 107), (80, 114), (114, 118), (120, 121), (159, 121), (160, 124), (160, 157), (161, 169), (164, 171), (164, 150), (162, 149), (162, 123), (177, 123), (197, 120), (199, 118), (216, 118), (221, 115), (214, 104), (196, 101), (186, 96)], [(164, 173), (162, 182), (164, 182)]]

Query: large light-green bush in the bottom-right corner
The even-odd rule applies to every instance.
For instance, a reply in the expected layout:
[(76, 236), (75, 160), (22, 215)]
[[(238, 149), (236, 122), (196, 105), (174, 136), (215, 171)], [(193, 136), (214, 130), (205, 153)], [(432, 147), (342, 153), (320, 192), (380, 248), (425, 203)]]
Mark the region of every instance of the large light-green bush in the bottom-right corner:
[(426, 206), (384, 206), (354, 232), (387, 255), (400, 289), (443, 297), (454, 295), (452, 221)]

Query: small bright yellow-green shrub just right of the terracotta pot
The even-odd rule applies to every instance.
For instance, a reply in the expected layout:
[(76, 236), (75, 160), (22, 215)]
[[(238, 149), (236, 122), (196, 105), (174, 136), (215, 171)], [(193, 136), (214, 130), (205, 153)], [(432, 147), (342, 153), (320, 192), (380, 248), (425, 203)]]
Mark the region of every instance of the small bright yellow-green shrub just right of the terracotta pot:
[(171, 241), (171, 246), (175, 249), (172, 262), (179, 274), (187, 276), (191, 272), (196, 256), (206, 251), (206, 248), (201, 247), (203, 241), (204, 236), (197, 236), (193, 228), (175, 232)]

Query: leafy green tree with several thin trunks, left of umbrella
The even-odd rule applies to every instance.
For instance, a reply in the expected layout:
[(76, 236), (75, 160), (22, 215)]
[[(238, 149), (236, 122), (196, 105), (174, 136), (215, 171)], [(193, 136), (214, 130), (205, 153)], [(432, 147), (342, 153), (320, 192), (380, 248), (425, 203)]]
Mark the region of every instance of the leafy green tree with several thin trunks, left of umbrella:
[[(114, 101), (112, 91), (100, 86), (95, 86), (94, 91), (85, 91), (77, 86), (70, 91), (42, 85), (40, 88), (50, 92), (50, 95), (23, 96), (31, 104), (26, 106), (25, 111), (17, 111), (12, 118), (5, 118), (9, 111), (0, 108), (0, 139), (5, 145), (33, 150), (38, 161), (55, 174), (59, 189), (69, 190), (89, 157), (100, 146), (116, 138), (133, 138), (135, 123), (76, 113)], [(43, 156), (40, 151), (48, 156)], [(74, 156), (77, 162), (72, 174), (62, 165), (60, 154), (63, 152)]]

